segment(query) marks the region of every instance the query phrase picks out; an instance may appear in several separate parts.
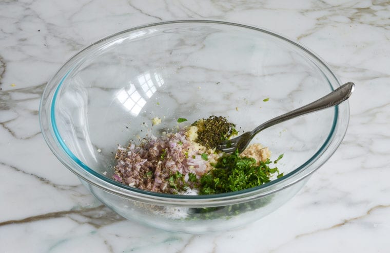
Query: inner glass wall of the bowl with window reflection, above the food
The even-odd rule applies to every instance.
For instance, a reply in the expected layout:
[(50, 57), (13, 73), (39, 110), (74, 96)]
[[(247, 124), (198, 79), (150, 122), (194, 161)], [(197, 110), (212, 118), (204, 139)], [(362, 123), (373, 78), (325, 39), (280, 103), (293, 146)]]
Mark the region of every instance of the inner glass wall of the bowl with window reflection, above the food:
[[(150, 41), (152, 36), (158, 36), (157, 40), (164, 43)], [(127, 46), (130, 42), (131, 46)], [(78, 97), (64, 104), (82, 101), (75, 105), (73, 119), (68, 118), (68, 122), (84, 120), (73, 124), (78, 126), (72, 128), (71, 134), (91, 141), (67, 143), (87, 165), (92, 161), (94, 165), (102, 165), (102, 161), (106, 161), (104, 164), (111, 166), (107, 158), (118, 144), (126, 146), (131, 139), (143, 138), (150, 129), (154, 134), (166, 131), (175, 126), (178, 117), (193, 122), (211, 114), (224, 115), (237, 123), (239, 129), (248, 130), (262, 119), (302, 105), (307, 101), (307, 89), (318, 91), (318, 83), (326, 82), (318, 78), (319, 70), (315, 66), (308, 66), (305, 56), (288, 48), (280, 50), (280, 44), (286, 44), (284, 41), (269, 36), (255, 38), (250, 31), (207, 28), (204, 32), (200, 26), (189, 30), (178, 27), (162, 34), (159, 29), (152, 29), (136, 36), (130, 34), (129, 38), (118, 38), (115, 43), (120, 46), (105, 47), (109, 49), (84, 61), (66, 80), (77, 85), (72, 86), (72, 91), (63, 91), (69, 92), (71, 98)], [(74, 94), (76, 87), (79, 94)], [(320, 86), (323, 93), (329, 88)], [(265, 98), (269, 100), (264, 102)], [(324, 115), (328, 119), (323, 124), (333, 123), (332, 110), (320, 114), (286, 122), (270, 130), (272, 133), (266, 130), (255, 141), (266, 143), (275, 154), (284, 153), (285, 147), (298, 152), (318, 150), (320, 140), (327, 134), (318, 135), (317, 131), (307, 131), (299, 125), (324, 118)], [(163, 124), (151, 128), (154, 117), (162, 118)], [(93, 128), (88, 128), (89, 125)], [(294, 131), (287, 131), (293, 128)], [(306, 133), (302, 135), (299, 131)], [(66, 130), (60, 132), (64, 139), (70, 134)], [(273, 133), (278, 133), (279, 138)], [(280, 138), (282, 134), (284, 138)], [(112, 144), (107, 145), (109, 138)], [(272, 148), (276, 140), (286, 140), (283, 149)], [(88, 158), (85, 149), (89, 150)], [(104, 155), (105, 158), (96, 158), (96, 150), (101, 150), (99, 157)], [(285, 162), (298, 166), (302, 162), (298, 157), (286, 157)]]

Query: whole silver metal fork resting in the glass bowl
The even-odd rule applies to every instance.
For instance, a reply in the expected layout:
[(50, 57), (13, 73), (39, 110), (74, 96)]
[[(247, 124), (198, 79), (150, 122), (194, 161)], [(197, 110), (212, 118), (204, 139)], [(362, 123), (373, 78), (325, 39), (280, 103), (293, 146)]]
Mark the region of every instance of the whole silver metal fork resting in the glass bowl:
[(236, 138), (225, 140), (217, 146), (217, 150), (220, 150), (226, 154), (232, 154), (236, 151), (236, 149), (238, 149), (238, 152), (241, 153), (248, 146), (251, 139), (255, 137), (255, 135), (258, 134), (260, 131), (263, 131), (264, 129), (269, 128), (269, 126), (284, 122), (286, 120), (338, 105), (349, 98), (349, 96), (354, 91), (354, 87), (355, 84), (353, 82), (345, 83), (335, 89), (335, 91), (314, 102), (306, 104), (289, 113), (280, 115), (262, 123), (257, 128), (253, 129), (253, 131), (251, 132), (245, 132)]

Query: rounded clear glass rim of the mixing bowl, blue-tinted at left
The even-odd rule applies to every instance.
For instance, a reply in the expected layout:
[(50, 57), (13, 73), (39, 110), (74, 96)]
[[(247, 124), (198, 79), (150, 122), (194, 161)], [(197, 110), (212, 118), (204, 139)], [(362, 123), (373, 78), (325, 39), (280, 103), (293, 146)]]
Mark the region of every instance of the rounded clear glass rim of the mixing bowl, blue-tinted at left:
[[(295, 170), (289, 172), (281, 178), (272, 180), (271, 182), (253, 187), (250, 189), (245, 189), (236, 192), (229, 193), (220, 193), (220, 194), (211, 194), (211, 195), (175, 195), (175, 194), (167, 194), (167, 193), (155, 193), (150, 191), (141, 190), (138, 188), (129, 187), (127, 185), (121, 184), (119, 182), (114, 181), (108, 177), (97, 173), (96, 171), (89, 168), (85, 165), (80, 159), (78, 159), (66, 146), (64, 141), (59, 134), (59, 131), (56, 128), (55, 123), (55, 102), (56, 96), (60, 91), (61, 85), (68, 76), (69, 73), (74, 69), (73, 62), (76, 62), (77, 58), (82, 56), (83, 54), (88, 53), (88, 51), (96, 47), (96, 45), (100, 45), (104, 42), (110, 41), (111, 39), (115, 39), (116, 37), (125, 34), (131, 33), (136, 30), (147, 29), (155, 26), (162, 25), (170, 25), (170, 24), (182, 24), (182, 23), (206, 23), (206, 24), (220, 24), (220, 25), (229, 25), (241, 28), (247, 28), (255, 31), (259, 31), (262, 33), (269, 34), (278, 39), (286, 41), (287, 43), (296, 46), (298, 49), (307, 53), (310, 57), (312, 57), (316, 62), (316, 66), (320, 64), (327, 71), (328, 75), (335, 80), (334, 85), (329, 82), (328, 76), (325, 75), (328, 80), (328, 84), (331, 89), (337, 88), (340, 86), (340, 81), (334, 75), (333, 71), (330, 70), (328, 65), (318, 57), (314, 52), (301, 45), (298, 42), (295, 42), (291, 39), (286, 38), (285, 36), (278, 34), (276, 32), (271, 32), (269, 30), (249, 26), (239, 23), (232, 23), (226, 21), (218, 21), (218, 20), (173, 20), (173, 21), (164, 21), (157, 23), (150, 23), (146, 25), (136, 26), (130, 29), (126, 29), (107, 37), (96, 41), (95, 43), (85, 47), (80, 52), (76, 53), (72, 56), (53, 76), (53, 78), (48, 82), (45, 91), (42, 95), (40, 109), (39, 109), (39, 118), (42, 134), (44, 136), (45, 141), (47, 142), (50, 150), (54, 153), (54, 155), (73, 173), (80, 177), (80, 179), (88, 182), (89, 184), (99, 187), (107, 192), (113, 193), (115, 195), (120, 195), (125, 198), (129, 198), (131, 200), (146, 202), (150, 204), (161, 204), (161, 205), (170, 205), (170, 206), (218, 206), (225, 204), (238, 204), (242, 202), (246, 202), (252, 199), (260, 198), (266, 195), (270, 195), (282, 189), (285, 189), (291, 185), (294, 185), (309, 176), (315, 170), (320, 168), (324, 162), (332, 156), (332, 154), (336, 151), (339, 144), (341, 143), (348, 126), (349, 121), (349, 105), (348, 101), (335, 106), (335, 114), (332, 129), (328, 137), (325, 139), (322, 146), (319, 150), (311, 156), (304, 164), (297, 167)], [(311, 60), (313, 60), (311, 59)], [(321, 69), (322, 71), (322, 69)], [(322, 71), (323, 72), (323, 71)], [(58, 80), (58, 81), (57, 81)], [(48, 106), (49, 105), (49, 106)], [(340, 117), (339, 106), (344, 107), (344, 111), (346, 111), (346, 122), (342, 125), (341, 128), (339, 124), (338, 118)], [(44, 109), (48, 108), (50, 113), (46, 112)], [(338, 131), (337, 131), (338, 130)], [(341, 132), (340, 132), (341, 131)], [(335, 139), (336, 132), (338, 132), (338, 139)], [(331, 145), (332, 144), (332, 145)], [(62, 153), (61, 153), (62, 152)], [(65, 153), (64, 153), (65, 152)], [(324, 155), (326, 157), (324, 158)], [(320, 158), (323, 159), (320, 159)], [(314, 165), (315, 166), (312, 166)], [(312, 166), (312, 167), (310, 167)]]

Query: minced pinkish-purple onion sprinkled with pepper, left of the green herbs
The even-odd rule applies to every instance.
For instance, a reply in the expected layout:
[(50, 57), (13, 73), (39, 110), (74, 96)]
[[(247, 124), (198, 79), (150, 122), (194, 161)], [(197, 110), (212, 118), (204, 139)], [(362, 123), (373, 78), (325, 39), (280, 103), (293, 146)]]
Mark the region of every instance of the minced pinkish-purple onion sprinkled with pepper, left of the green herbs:
[[(189, 141), (185, 130), (161, 138), (149, 136), (139, 145), (130, 143), (127, 149), (118, 147), (115, 180), (140, 189), (170, 192), (172, 189), (167, 187), (170, 175), (179, 172), (188, 182), (188, 173), (201, 176), (210, 169), (209, 161), (201, 157), (205, 148)], [(213, 152), (208, 155), (209, 158), (218, 156)]]

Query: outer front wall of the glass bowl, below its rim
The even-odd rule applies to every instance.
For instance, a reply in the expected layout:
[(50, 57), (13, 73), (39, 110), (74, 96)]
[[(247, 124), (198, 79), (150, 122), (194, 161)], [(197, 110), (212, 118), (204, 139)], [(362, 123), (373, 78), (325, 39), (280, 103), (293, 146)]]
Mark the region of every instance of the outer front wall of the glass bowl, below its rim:
[[(82, 183), (98, 200), (130, 221), (167, 231), (201, 234), (237, 228), (261, 219), (293, 197), (307, 182), (307, 179), (291, 188), (249, 203), (209, 208), (145, 204), (112, 195), (100, 188), (88, 185), (83, 180)], [(184, 223), (185, 226), (183, 226)]]

